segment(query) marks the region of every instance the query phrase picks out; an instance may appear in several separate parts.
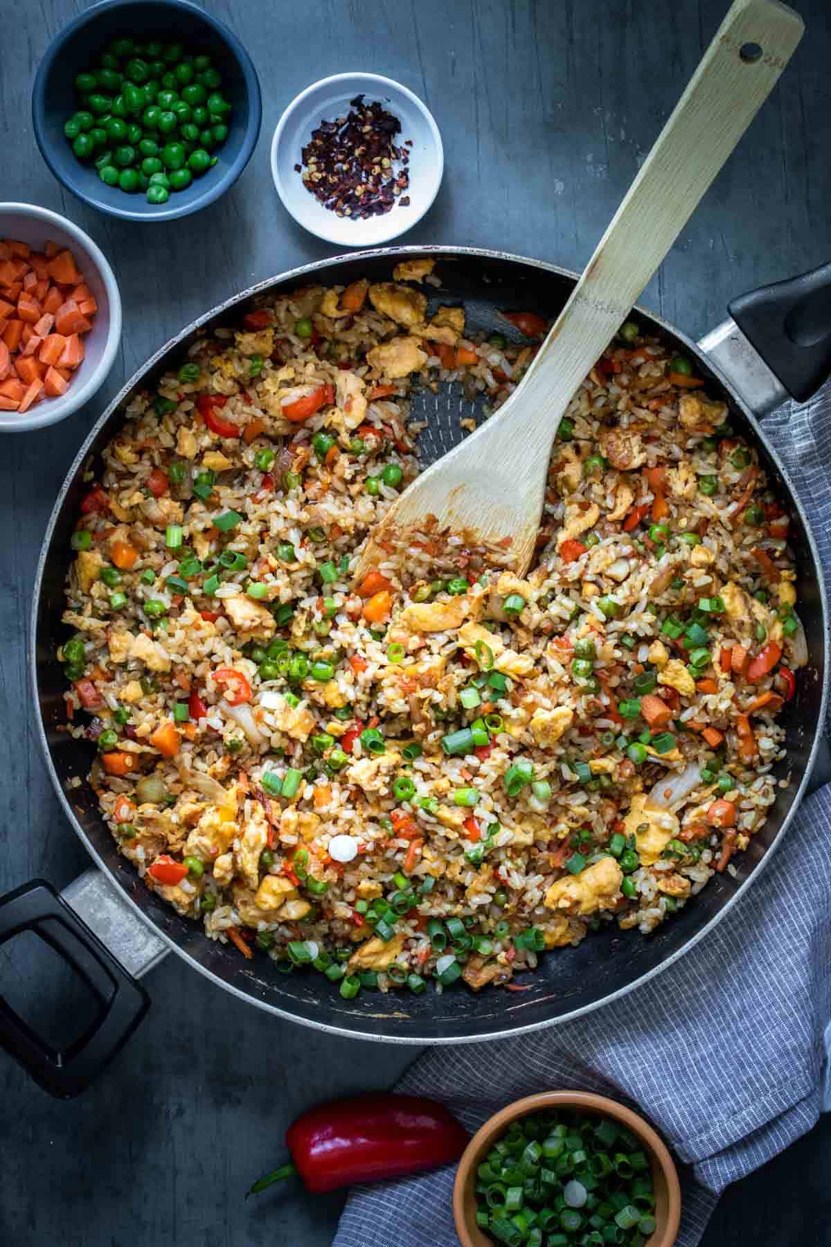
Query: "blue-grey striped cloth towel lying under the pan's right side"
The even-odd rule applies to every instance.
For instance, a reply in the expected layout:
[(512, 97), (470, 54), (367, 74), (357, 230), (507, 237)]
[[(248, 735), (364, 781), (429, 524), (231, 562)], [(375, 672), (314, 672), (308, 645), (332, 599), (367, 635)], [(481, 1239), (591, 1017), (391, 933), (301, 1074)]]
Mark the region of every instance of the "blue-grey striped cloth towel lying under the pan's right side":
[[(764, 421), (831, 571), (831, 385)], [(639, 1107), (681, 1161), (680, 1247), (719, 1193), (815, 1124), (831, 1018), (831, 786), (809, 797), (724, 920), (623, 1000), (518, 1039), (439, 1047), (396, 1090), (476, 1130), (533, 1091), (583, 1087)], [(353, 1192), (335, 1247), (452, 1247), (453, 1167)]]

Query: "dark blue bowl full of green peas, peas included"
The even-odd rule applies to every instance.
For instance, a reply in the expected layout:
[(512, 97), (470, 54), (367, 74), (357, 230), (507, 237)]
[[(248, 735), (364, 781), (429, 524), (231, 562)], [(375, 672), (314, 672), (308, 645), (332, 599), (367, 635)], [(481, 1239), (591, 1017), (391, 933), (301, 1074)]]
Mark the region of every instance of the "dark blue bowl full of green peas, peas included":
[[(35, 137), (55, 177), (132, 221), (169, 221), (219, 198), (260, 121), (248, 52), (192, 0), (101, 0), (52, 40), (32, 90)], [(153, 182), (162, 170), (167, 186)]]

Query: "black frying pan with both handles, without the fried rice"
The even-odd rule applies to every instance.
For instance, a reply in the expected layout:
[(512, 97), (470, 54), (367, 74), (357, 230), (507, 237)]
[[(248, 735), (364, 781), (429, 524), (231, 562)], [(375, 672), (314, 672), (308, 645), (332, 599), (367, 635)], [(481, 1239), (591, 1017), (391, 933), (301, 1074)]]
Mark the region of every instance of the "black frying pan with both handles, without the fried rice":
[[(60, 728), (65, 722), (66, 681), (56, 650), (66, 636), (61, 624), (64, 581), (70, 560), (82, 475), (95, 466), (122, 423), (126, 402), (152, 385), (184, 354), (198, 330), (235, 323), (252, 297), (282, 293), (314, 282), (346, 284), (358, 277), (387, 281), (402, 257), (431, 256), (442, 289), (436, 302), (463, 302), (470, 332), (498, 328), (511, 334), (502, 311), (533, 311), (554, 317), (576, 281), (573, 273), (539, 261), (465, 247), (384, 248), (297, 268), (262, 282), (188, 325), (127, 383), (90, 431), (52, 511), (35, 579), (31, 622), (31, 677), (37, 731), (46, 766), (67, 818), (97, 869), (59, 895), (44, 880), (24, 884), (0, 899), (0, 943), (21, 930), (47, 940), (86, 980), (100, 1000), (98, 1016), (71, 1049), (59, 1052), (30, 1030), (0, 998), (0, 1042), (54, 1095), (81, 1091), (112, 1059), (148, 1008), (141, 975), (169, 950), (184, 958), (217, 986), (280, 1018), (335, 1035), (399, 1044), (451, 1044), (516, 1035), (576, 1018), (632, 990), (670, 965), (700, 940), (750, 887), (784, 835), (822, 753), (820, 728), (826, 706), (827, 602), (819, 555), (807, 519), (785, 469), (766, 444), (757, 416), (787, 398), (806, 399), (831, 370), (831, 264), (814, 273), (744, 296), (730, 304), (733, 319), (694, 343), (654, 314), (637, 309), (649, 329), (696, 360), (708, 393), (730, 407), (731, 421), (756, 444), (772, 488), (789, 509), (791, 545), (799, 575), (799, 611), (809, 647), (797, 696), (784, 712), (791, 783), (777, 789), (764, 828), (736, 859), (736, 874), (721, 874), (672, 922), (644, 938), (610, 924), (577, 948), (543, 959), (527, 981), (529, 990), (510, 994), (466, 988), (420, 996), (361, 993), (343, 1000), (323, 976), (282, 974), (267, 956), (244, 960), (233, 945), (207, 939), (201, 924), (178, 917), (140, 882), (98, 813), (83, 779), (91, 754), (86, 742)], [(756, 343), (756, 348), (751, 344)], [(762, 359), (764, 355), (764, 359)], [(766, 360), (766, 362), (765, 362)], [(782, 384), (784, 383), (784, 384)], [(461, 435), (458, 420), (475, 412), (458, 385), (422, 393), (415, 415), (427, 421), (420, 450), (426, 461), (444, 454)], [(822, 759), (821, 759), (822, 761)], [(816, 768), (817, 774), (822, 766)], [(815, 776), (816, 782), (816, 776)]]

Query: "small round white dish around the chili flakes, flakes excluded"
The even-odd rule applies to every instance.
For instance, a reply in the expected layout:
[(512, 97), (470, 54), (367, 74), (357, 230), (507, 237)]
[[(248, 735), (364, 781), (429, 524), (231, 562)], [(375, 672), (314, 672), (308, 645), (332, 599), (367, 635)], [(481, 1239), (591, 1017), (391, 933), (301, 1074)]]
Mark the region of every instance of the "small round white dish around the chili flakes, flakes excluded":
[[(407, 148), (410, 186), (405, 192), (409, 206), (396, 202), (389, 212), (365, 221), (338, 217), (324, 208), (294, 168), (303, 162), (302, 151), (311, 131), (321, 121), (345, 117), (356, 95), (364, 95), (368, 104), (380, 100), (399, 118), (396, 146), (412, 140)], [(376, 247), (411, 229), (436, 198), (444, 168), (441, 135), (430, 110), (407, 87), (379, 74), (335, 74), (314, 82), (288, 106), (272, 140), (272, 177), (283, 206), (304, 229), (339, 247)]]

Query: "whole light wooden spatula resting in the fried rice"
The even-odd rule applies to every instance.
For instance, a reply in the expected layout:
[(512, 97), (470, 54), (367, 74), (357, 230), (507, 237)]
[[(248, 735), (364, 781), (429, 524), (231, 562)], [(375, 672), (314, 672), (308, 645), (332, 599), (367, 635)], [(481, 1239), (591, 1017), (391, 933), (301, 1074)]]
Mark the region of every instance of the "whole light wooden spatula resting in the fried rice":
[(429, 516), (468, 542), (502, 542), (505, 565), (526, 571), (551, 446), (572, 395), (767, 99), (804, 29), (779, 0), (735, 0), (522, 384), (390, 508), (364, 547), (359, 581), (389, 557), (379, 539), (421, 527)]

